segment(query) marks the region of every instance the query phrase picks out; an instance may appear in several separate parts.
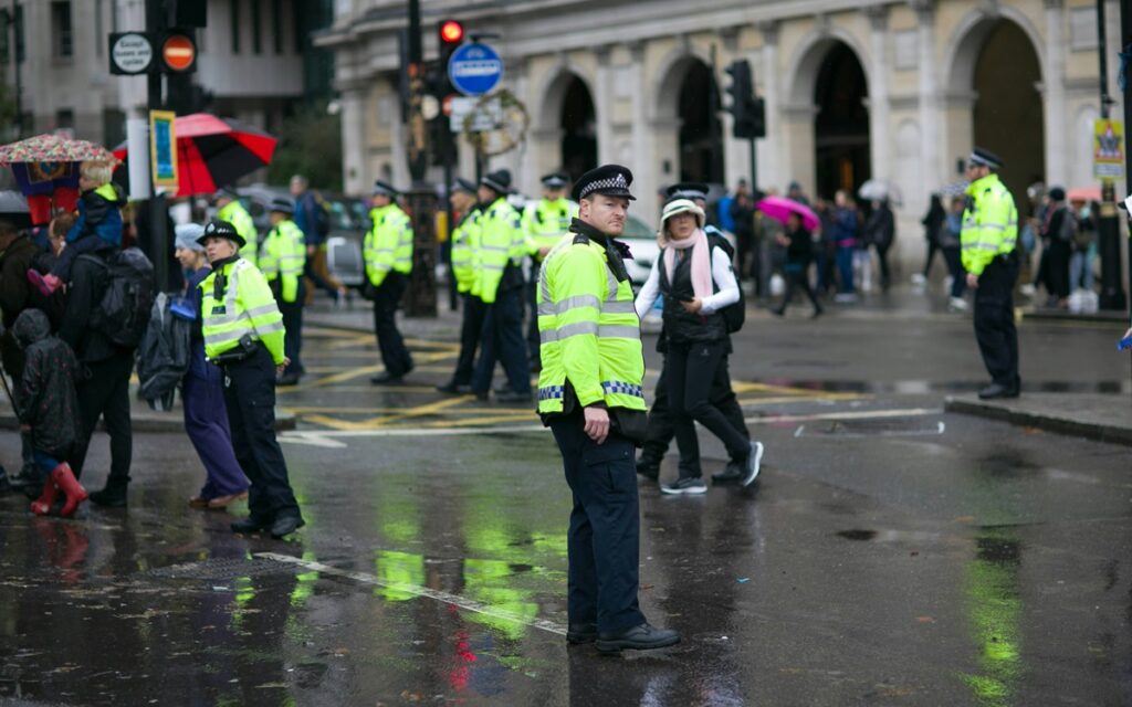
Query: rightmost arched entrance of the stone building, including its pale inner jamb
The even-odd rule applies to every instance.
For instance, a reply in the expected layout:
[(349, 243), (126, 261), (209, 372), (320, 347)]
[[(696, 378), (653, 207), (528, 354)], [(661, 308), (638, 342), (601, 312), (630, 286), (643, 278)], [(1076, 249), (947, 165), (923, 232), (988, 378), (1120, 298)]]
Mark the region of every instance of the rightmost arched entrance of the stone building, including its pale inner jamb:
[(1022, 215), (1030, 212), (1026, 188), (1046, 178), (1040, 81), (1034, 43), (1010, 19), (976, 23), (957, 46), (949, 90), (953, 97), (967, 96), (970, 107), (960, 101), (962, 107), (949, 114), (952, 150), (961, 158), (978, 145), (1002, 157), (1002, 180)]

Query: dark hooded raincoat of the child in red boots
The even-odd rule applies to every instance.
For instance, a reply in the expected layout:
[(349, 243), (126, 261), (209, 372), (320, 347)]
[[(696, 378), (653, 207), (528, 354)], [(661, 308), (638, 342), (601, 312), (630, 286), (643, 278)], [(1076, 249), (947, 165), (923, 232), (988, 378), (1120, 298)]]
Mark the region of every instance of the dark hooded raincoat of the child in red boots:
[(51, 335), (48, 316), (37, 309), (20, 314), (14, 329), (27, 356), (16, 414), (32, 428), (36, 450), (66, 458), (82, 425), (75, 393), (78, 361), (70, 346)]

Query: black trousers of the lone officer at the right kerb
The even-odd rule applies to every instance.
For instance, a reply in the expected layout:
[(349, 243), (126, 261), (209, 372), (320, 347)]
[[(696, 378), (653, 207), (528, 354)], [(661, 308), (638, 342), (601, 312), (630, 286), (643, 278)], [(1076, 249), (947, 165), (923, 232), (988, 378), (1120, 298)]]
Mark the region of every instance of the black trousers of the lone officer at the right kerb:
[(1000, 256), (979, 276), (975, 291), (975, 338), (990, 379), (1006, 387), (1019, 385), (1018, 330), (1014, 328), (1014, 281), (1018, 260)]

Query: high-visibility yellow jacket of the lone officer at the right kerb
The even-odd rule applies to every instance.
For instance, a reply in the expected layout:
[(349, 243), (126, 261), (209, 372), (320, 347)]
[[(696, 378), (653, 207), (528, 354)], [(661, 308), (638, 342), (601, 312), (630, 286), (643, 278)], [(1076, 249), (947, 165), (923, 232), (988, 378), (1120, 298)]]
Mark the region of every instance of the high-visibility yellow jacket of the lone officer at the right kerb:
[(1010, 253), (1018, 243), (1018, 208), (1014, 197), (997, 174), (987, 174), (967, 188), (970, 197), (963, 212), (959, 236), (963, 269), (981, 275), (996, 257)]

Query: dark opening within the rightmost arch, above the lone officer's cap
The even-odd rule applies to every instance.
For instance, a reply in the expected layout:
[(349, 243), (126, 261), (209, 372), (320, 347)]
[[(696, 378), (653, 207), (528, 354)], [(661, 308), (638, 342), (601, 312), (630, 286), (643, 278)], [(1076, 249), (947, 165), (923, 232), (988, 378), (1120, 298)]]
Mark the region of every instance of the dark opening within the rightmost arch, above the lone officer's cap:
[[(1002, 71), (1006, 66), (1009, 76)], [(975, 63), (975, 144), (1002, 157), (1002, 181), (1022, 216), (1029, 206), (1026, 188), (1045, 181), (1040, 80), (1041, 69), (1029, 37), (1014, 23), (998, 20)]]

